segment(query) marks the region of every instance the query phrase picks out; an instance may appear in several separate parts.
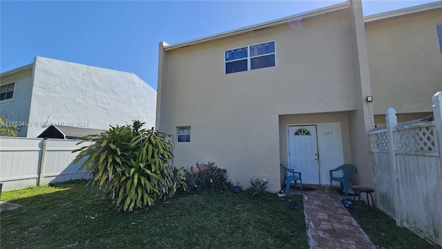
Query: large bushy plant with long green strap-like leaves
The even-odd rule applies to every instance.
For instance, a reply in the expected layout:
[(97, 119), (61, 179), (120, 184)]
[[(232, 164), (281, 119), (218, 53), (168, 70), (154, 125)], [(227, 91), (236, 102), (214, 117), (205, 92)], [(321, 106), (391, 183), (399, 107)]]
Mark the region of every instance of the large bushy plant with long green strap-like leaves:
[(86, 168), (90, 181), (125, 211), (151, 206), (186, 187), (180, 169), (169, 165), (173, 144), (160, 131), (142, 129), (143, 124), (135, 120), (84, 136), (79, 139), (93, 144), (73, 151), (80, 151), (74, 163), (84, 160), (79, 169)]

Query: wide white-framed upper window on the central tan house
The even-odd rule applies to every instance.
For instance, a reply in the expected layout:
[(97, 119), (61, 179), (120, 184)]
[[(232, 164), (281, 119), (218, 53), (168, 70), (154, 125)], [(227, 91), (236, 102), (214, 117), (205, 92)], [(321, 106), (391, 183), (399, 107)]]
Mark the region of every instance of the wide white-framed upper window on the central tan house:
[(275, 66), (275, 42), (226, 50), (224, 51), (224, 64), (225, 73)]

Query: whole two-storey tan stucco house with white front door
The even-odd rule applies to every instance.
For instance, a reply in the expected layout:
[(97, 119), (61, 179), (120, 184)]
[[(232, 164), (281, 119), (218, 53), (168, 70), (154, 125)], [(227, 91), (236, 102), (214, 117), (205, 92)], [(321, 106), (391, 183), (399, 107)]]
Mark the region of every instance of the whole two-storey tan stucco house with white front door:
[(280, 163), (320, 185), (353, 163), (372, 185), (370, 95), (361, 1), (347, 1), (160, 43), (156, 127), (172, 134), (174, 165), (214, 161), (244, 186), (280, 190)]

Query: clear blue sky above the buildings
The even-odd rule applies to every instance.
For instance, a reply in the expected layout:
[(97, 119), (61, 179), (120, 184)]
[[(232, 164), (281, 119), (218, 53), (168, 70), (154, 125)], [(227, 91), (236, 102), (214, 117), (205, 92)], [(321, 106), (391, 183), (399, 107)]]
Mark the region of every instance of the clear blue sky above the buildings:
[[(159, 42), (175, 44), (343, 1), (0, 1), (0, 71), (35, 56), (137, 74), (157, 89)], [(363, 1), (364, 15), (432, 1)]]

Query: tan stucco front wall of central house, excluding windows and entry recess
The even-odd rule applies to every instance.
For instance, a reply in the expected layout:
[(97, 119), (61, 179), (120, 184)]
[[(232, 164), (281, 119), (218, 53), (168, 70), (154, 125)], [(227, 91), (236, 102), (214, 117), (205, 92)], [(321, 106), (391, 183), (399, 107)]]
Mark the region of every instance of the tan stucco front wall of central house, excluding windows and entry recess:
[[(279, 190), (279, 115), (350, 111), (362, 99), (360, 88), (355, 95), (351, 18), (346, 9), (296, 27), (160, 50), (166, 68), (157, 122), (171, 134), (191, 126), (191, 142), (175, 144), (175, 165), (211, 160), (242, 185), (266, 177), (269, 190)], [(224, 74), (224, 50), (271, 40), (275, 67)]]

